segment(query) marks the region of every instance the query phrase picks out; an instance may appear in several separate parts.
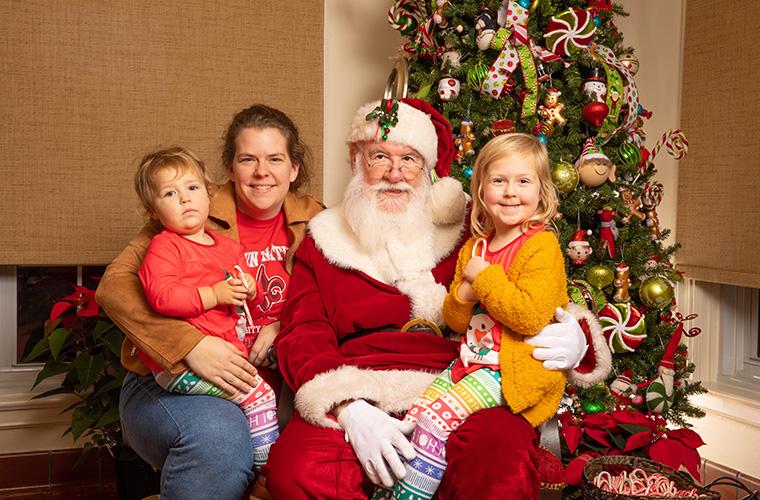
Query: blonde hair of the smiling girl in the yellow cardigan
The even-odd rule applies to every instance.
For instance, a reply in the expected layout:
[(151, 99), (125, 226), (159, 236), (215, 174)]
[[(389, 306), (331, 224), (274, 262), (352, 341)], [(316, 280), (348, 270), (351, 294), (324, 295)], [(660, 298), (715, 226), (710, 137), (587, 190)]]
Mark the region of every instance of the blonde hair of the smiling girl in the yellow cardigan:
[(559, 197), (552, 182), (549, 155), (546, 147), (532, 135), (504, 134), (494, 137), (480, 150), (472, 170), (470, 192), (472, 193), (472, 213), (470, 221), (472, 234), (487, 238), (494, 229), (493, 220), (486, 211), (483, 203), (483, 182), (488, 175), (488, 169), (494, 162), (507, 156), (523, 156), (533, 161), (536, 177), (539, 183), (538, 208), (536, 213), (523, 222), (522, 230), (536, 226), (549, 226), (557, 213)]

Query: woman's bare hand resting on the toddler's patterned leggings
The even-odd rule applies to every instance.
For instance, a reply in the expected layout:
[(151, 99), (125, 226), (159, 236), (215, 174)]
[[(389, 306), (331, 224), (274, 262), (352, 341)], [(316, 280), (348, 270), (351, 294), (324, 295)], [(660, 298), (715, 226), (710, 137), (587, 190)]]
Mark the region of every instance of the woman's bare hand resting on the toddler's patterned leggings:
[(219, 337), (203, 337), (185, 362), (200, 377), (231, 394), (250, 391), (256, 375), (243, 353)]

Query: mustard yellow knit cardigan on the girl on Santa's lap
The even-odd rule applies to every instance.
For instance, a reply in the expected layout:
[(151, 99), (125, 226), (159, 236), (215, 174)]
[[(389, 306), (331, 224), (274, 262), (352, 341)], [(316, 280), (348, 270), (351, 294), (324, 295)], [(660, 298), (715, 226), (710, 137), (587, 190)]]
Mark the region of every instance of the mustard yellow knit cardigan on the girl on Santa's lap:
[[(443, 303), (446, 323), (460, 334), (467, 332), (476, 304), (457, 297), (475, 240), (470, 238), (459, 252), (456, 275)], [(567, 306), (566, 287), (564, 258), (550, 231), (528, 238), (506, 273), (501, 264), (492, 264), (472, 284), (478, 301), (504, 325), (499, 352), (504, 398), (512, 412), (522, 414), (534, 427), (557, 412), (565, 374), (545, 369), (531, 356), (534, 347), (523, 340), (548, 325), (557, 307)]]

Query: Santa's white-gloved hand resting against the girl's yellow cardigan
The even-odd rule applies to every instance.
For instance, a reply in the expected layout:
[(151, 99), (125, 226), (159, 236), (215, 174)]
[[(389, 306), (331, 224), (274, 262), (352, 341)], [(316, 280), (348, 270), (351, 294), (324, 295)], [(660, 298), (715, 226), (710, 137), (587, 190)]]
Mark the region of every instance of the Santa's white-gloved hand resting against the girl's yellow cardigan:
[(533, 357), (544, 362), (547, 370), (569, 370), (575, 368), (586, 355), (588, 344), (581, 326), (572, 314), (557, 308), (552, 323), (525, 342), (536, 346)]

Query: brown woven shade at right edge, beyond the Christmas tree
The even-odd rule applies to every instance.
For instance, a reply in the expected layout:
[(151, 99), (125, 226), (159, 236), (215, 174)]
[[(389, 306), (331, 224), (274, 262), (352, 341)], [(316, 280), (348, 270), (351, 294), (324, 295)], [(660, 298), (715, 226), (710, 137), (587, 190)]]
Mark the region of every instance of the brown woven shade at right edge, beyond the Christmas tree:
[[(689, 277), (760, 287), (760, 2), (689, 0), (677, 239)], [(661, 153), (662, 154), (662, 153)]]

